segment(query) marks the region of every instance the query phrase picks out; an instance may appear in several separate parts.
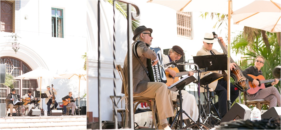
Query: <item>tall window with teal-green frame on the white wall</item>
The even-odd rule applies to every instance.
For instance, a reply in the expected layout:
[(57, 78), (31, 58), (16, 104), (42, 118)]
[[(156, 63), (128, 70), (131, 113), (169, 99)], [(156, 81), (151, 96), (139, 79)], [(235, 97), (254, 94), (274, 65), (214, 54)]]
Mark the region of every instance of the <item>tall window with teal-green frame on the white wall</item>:
[(52, 37), (64, 38), (63, 10), (52, 8)]

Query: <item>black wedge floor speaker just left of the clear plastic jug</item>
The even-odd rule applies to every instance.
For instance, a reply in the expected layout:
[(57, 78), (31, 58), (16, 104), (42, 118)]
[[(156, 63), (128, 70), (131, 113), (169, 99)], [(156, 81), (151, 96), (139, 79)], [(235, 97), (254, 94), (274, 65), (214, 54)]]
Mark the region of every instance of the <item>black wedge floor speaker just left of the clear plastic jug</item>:
[(244, 104), (235, 103), (230, 110), (225, 114), (220, 123), (229, 122), (238, 119), (250, 119), (251, 109)]

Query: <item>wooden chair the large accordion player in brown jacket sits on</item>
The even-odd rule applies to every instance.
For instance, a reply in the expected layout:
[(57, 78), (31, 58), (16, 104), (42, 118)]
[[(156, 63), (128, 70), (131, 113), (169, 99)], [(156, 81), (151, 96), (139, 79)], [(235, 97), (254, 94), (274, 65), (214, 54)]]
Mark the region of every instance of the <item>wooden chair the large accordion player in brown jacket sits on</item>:
[[(121, 68), (121, 65), (116, 65), (116, 69), (119, 72), (120, 78), (123, 81), (123, 86), (124, 86), (124, 92), (125, 92), (125, 100), (126, 100), (126, 118), (124, 121), (125, 122), (125, 128), (128, 128), (128, 94), (127, 94), (127, 89), (126, 89), (126, 79), (124, 76), (123, 69)], [(156, 114), (157, 114), (157, 109), (156, 109), (156, 102), (155, 98), (147, 98), (147, 97), (141, 97), (141, 96), (133, 96), (133, 103), (134, 103), (134, 113), (136, 112), (137, 106), (142, 103), (146, 102), (152, 111), (152, 116), (153, 116), (153, 125), (155, 126), (155, 129), (158, 129), (157, 122), (156, 122)], [(159, 119), (159, 116), (157, 114), (157, 119)], [(152, 127), (153, 127), (152, 125)], [(133, 126), (132, 126), (133, 127)]]

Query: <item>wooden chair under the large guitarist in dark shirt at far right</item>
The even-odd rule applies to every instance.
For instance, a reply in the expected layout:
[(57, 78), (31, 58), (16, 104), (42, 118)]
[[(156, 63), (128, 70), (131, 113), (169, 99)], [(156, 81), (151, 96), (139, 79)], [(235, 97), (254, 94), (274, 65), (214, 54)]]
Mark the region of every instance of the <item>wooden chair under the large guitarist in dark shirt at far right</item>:
[(257, 107), (259, 110), (263, 108), (263, 105), (267, 106), (267, 109), (269, 109), (269, 103), (268, 101), (265, 101), (263, 99), (257, 99), (257, 100), (247, 100), (246, 99), (246, 92), (244, 92), (244, 104), (250, 108), (250, 106)]

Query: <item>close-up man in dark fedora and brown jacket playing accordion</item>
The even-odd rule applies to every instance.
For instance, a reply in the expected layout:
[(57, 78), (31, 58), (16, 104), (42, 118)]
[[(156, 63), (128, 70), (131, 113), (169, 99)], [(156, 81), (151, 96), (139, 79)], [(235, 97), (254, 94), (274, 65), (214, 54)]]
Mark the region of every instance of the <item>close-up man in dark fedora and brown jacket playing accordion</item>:
[[(148, 47), (151, 45), (153, 37), (151, 36), (152, 29), (146, 28), (145, 26), (139, 26), (133, 32), (133, 44), (138, 43), (136, 46), (137, 57), (132, 53), (132, 69), (133, 69), (133, 96), (143, 96), (148, 98), (155, 98), (157, 112), (159, 115), (159, 129), (171, 129), (168, 125), (167, 118), (174, 116), (174, 110), (172, 106), (172, 95), (171, 91), (168, 89), (167, 85), (162, 82), (150, 82), (149, 76), (146, 74), (148, 70), (147, 59), (154, 61), (154, 64), (157, 64), (159, 58), (156, 53), (153, 52)], [(132, 47), (132, 49), (135, 49)], [(126, 79), (127, 90), (124, 90), (122, 86), (122, 93), (124, 91), (128, 92), (129, 89), (129, 77), (128, 77), (128, 52), (124, 60), (124, 75)], [(141, 65), (141, 63), (144, 65)]]

